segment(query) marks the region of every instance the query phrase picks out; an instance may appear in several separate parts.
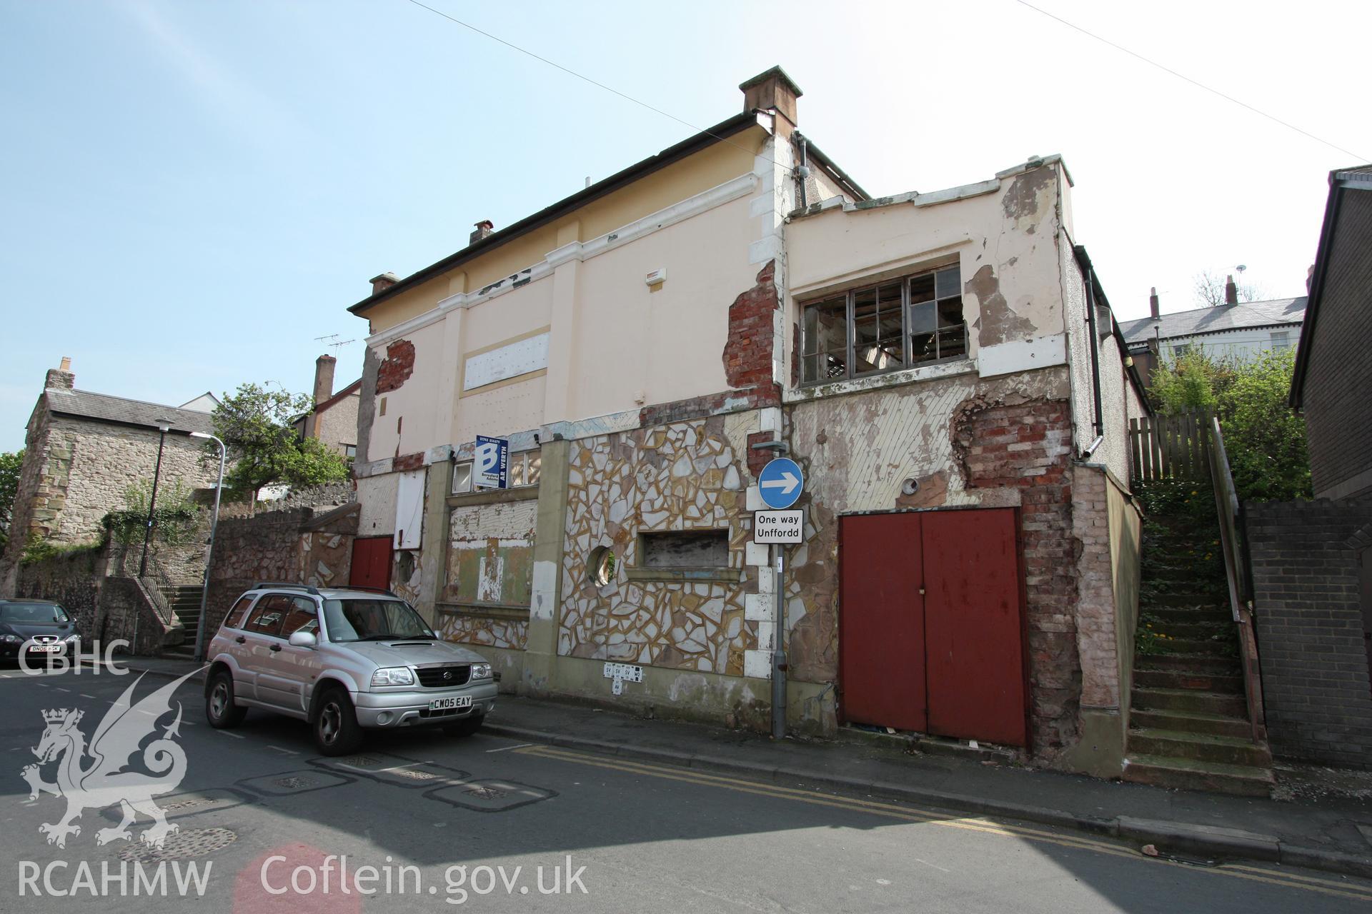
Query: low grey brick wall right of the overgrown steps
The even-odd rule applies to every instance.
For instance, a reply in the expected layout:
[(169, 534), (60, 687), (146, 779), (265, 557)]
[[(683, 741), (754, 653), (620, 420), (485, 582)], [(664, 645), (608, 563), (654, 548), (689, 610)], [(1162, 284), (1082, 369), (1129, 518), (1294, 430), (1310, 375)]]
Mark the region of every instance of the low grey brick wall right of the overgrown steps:
[(1284, 502), (1244, 510), (1272, 751), (1372, 767), (1372, 685), (1358, 603), (1372, 504)]

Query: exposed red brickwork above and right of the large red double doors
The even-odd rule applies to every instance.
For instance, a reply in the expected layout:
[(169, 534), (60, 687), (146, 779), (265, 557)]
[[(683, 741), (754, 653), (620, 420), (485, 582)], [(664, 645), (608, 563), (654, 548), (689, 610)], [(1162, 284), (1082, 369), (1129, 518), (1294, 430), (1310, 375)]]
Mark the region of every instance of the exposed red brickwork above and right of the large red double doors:
[(1066, 400), (969, 400), (952, 428), (969, 489), (1021, 491), (1030, 722), (1034, 752), (1052, 756), (1076, 741), (1081, 702), (1070, 407)]

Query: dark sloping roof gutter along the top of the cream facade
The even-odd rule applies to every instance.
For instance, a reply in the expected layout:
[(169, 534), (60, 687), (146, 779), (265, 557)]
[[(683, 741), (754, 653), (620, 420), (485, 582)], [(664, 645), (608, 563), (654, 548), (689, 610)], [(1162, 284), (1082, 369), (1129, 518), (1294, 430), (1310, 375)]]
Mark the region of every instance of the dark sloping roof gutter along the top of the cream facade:
[[(539, 210), (532, 215), (524, 217), (519, 222), (514, 222), (513, 225), (509, 225), (501, 229), (499, 232), (493, 232), (480, 241), (469, 244), (461, 251), (457, 251), (456, 254), (451, 254), (436, 263), (431, 263), (429, 266), (424, 267), (423, 270), (418, 270), (417, 273), (412, 273), (410, 275), (405, 277), (395, 285), (391, 285), (383, 289), (381, 292), (368, 296), (361, 301), (358, 301), (357, 304), (348, 307), (348, 311), (361, 315), (366, 308), (370, 308), (373, 304), (380, 304), (381, 301), (386, 301), (387, 299), (394, 297), (401, 292), (413, 289), (421, 282), (425, 282), (439, 275), (440, 273), (445, 273), (446, 270), (450, 270), (461, 263), (466, 263), (468, 260), (473, 260), (482, 256), (483, 254), (487, 254), (488, 251), (501, 247), (502, 244), (513, 241), (520, 236), (528, 234), (534, 229), (539, 229), (547, 225), (549, 222), (586, 206), (593, 200), (613, 193), (615, 190), (619, 190), (620, 188), (632, 184), (639, 178), (643, 178), (654, 171), (660, 171), (661, 169), (665, 169), (667, 166), (679, 162), (681, 159), (685, 159), (689, 155), (700, 152), (701, 149), (713, 145), (715, 143), (727, 140), (729, 137), (737, 133), (742, 133), (748, 127), (756, 125), (757, 125), (757, 118), (753, 114), (750, 112), (735, 114), (729, 121), (716, 123), (708, 130), (701, 130), (696, 136), (689, 137), (674, 147), (668, 147), (654, 156), (649, 156), (642, 162), (628, 166), (623, 171), (612, 174), (611, 177), (604, 178), (602, 181), (597, 181), (584, 190), (578, 190), (572, 196), (564, 197), (563, 200), (558, 200), (550, 207), (545, 207), (543, 210)], [(811, 149), (814, 149), (814, 147), (811, 147)]]

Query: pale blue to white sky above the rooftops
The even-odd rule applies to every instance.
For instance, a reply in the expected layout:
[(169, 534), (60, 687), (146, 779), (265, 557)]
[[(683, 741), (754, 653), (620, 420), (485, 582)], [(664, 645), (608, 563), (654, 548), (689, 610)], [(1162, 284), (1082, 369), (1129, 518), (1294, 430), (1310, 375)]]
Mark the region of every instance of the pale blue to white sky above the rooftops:
[[(429, 3), (697, 126), (779, 63), (801, 129), (874, 193), (1061, 152), (1121, 318), (1238, 263), (1303, 293), (1327, 173), (1357, 158), (1013, 0)], [(1039, 5), (1372, 156), (1339, 97), (1364, 63), (1327, 52), (1362, 4)], [(338, 333), (351, 381), (369, 277), (693, 133), (406, 0), (0, 0), (0, 449), (63, 355), (82, 389), (174, 404), (307, 391)]]

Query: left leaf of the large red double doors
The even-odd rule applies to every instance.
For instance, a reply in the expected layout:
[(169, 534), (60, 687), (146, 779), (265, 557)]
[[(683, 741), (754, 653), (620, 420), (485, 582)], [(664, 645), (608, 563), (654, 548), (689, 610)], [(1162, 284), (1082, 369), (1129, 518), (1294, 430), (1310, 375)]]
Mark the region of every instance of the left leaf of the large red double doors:
[(838, 522), (838, 663), (845, 721), (926, 729), (919, 514)]

